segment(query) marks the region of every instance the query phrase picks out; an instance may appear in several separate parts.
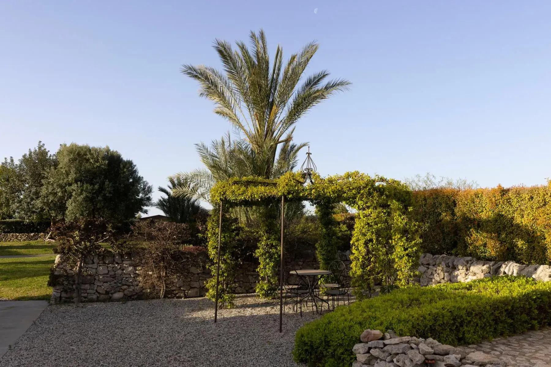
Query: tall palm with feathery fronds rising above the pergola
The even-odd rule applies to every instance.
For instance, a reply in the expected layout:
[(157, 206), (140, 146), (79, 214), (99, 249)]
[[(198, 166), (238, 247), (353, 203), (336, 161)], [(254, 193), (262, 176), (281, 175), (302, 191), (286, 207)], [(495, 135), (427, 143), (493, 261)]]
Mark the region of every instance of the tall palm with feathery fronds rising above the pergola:
[(210, 150), (198, 145), (208, 172), (199, 169), (178, 174), (183, 184), (173, 190), (175, 195), (205, 200), (209, 187), (219, 179), (246, 175), (276, 178), (293, 169), (296, 155), (306, 145), (292, 142), (296, 122), (350, 84), (344, 79), (326, 81), (329, 73), (322, 70), (299, 85), (318, 49), (315, 42), (292, 54), (285, 65), (279, 45), (271, 65), (264, 31), (251, 31), (250, 42), (251, 48), (237, 42), (239, 51), (229, 42), (214, 42), (223, 72), (205, 65), (182, 65), (182, 73), (201, 85), (199, 96), (213, 101), (214, 113), (227, 119), (244, 137), (233, 142), (229, 136), (214, 141)]

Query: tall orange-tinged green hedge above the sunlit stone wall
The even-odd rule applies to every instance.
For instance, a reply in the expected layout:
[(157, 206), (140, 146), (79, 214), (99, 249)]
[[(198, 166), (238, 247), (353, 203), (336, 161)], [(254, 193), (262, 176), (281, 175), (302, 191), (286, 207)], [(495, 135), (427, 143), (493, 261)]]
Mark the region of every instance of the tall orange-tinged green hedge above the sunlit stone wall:
[(505, 189), (430, 189), (413, 193), (423, 251), (551, 264), (551, 181)]

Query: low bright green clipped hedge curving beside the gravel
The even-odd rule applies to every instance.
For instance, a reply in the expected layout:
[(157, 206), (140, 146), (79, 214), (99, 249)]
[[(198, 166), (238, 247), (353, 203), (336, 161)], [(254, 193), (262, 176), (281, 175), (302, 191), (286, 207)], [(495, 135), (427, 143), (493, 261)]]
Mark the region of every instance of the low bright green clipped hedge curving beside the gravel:
[(393, 330), (454, 346), (551, 324), (551, 283), (494, 277), (435, 287), (409, 287), (338, 307), (295, 336), (293, 356), (310, 366), (349, 366), (361, 332)]

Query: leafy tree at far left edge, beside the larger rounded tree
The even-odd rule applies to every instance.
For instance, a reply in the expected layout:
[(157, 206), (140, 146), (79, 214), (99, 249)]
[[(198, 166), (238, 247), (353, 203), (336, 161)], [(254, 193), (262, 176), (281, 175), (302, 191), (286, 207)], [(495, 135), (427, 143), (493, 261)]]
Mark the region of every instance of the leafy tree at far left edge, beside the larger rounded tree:
[(41, 141), (34, 149), (24, 154), (17, 163), (13, 157), (4, 159), (0, 196), (7, 216), (28, 221), (39, 221), (48, 218), (48, 213), (41, 207), (39, 198), (42, 183), (47, 172), (57, 166), (56, 155), (51, 155)]

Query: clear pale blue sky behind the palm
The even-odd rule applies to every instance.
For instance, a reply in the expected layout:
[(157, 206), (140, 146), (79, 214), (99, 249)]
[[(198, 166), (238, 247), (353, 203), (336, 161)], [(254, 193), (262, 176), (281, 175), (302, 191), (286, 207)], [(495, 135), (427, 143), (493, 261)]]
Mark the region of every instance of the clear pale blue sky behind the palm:
[(230, 128), (180, 65), (219, 67), (215, 38), (263, 28), (287, 56), (317, 40), (309, 72), (353, 83), (296, 127), (322, 175), (543, 184), (549, 19), (549, 1), (3, 1), (0, 157), (109, 145), (165, 185)]

